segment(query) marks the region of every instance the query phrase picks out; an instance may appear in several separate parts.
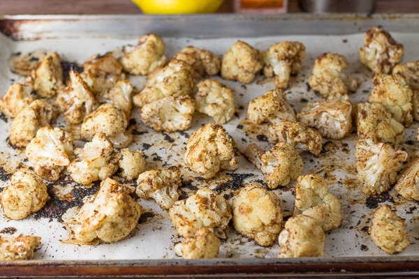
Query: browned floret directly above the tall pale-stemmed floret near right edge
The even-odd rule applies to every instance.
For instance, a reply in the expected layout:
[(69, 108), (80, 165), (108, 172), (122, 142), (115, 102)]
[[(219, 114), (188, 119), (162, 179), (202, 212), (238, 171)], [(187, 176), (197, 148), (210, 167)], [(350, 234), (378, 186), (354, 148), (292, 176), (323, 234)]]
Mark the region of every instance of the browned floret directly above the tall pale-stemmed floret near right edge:
[(401, 144), (404, 126), (379, 103), (359, 103), (355, 106), (356, 126), (359, 140)]

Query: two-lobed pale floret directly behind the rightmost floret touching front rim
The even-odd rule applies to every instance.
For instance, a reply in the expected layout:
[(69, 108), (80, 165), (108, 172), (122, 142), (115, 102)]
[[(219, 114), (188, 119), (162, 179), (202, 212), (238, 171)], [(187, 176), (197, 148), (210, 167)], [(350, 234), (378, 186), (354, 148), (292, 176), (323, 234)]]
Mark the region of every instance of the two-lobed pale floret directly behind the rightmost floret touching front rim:
[(297, 179), (294, 216), (299, 214), (314, 218), (325, 232), (340, 227), (344, 218), (341, 202), (328, 192), (328, 183), (317, 174)]

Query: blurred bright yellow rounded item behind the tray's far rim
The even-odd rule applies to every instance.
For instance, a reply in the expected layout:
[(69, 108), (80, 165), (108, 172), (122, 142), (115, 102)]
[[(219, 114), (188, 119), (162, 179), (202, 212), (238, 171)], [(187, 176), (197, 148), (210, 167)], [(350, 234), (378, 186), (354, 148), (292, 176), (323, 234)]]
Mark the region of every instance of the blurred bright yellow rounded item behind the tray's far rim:
[(147, 14), (215, 13), (223, 0), (132, 0)]

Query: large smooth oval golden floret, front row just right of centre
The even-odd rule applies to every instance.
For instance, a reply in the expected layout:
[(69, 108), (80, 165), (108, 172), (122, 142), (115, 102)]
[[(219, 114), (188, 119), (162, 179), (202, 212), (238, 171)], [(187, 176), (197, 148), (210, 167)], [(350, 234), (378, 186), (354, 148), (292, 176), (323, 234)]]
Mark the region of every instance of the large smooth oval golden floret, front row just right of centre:
[(279, 198), (258, 183), (249, 183), (233, 199), (233, 226), (260, 246), (272, 246), (281, 232)]

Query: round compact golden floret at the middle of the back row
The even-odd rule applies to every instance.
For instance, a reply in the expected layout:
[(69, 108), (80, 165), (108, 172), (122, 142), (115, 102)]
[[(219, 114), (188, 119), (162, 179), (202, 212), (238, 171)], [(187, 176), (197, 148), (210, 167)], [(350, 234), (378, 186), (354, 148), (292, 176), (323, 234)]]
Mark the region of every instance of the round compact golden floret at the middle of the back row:
[(258, 50), (238, 40), (223, 55), (221, 77), (226, 80), (238, 80), (242, 83), (253, 82), (263, 68)]

